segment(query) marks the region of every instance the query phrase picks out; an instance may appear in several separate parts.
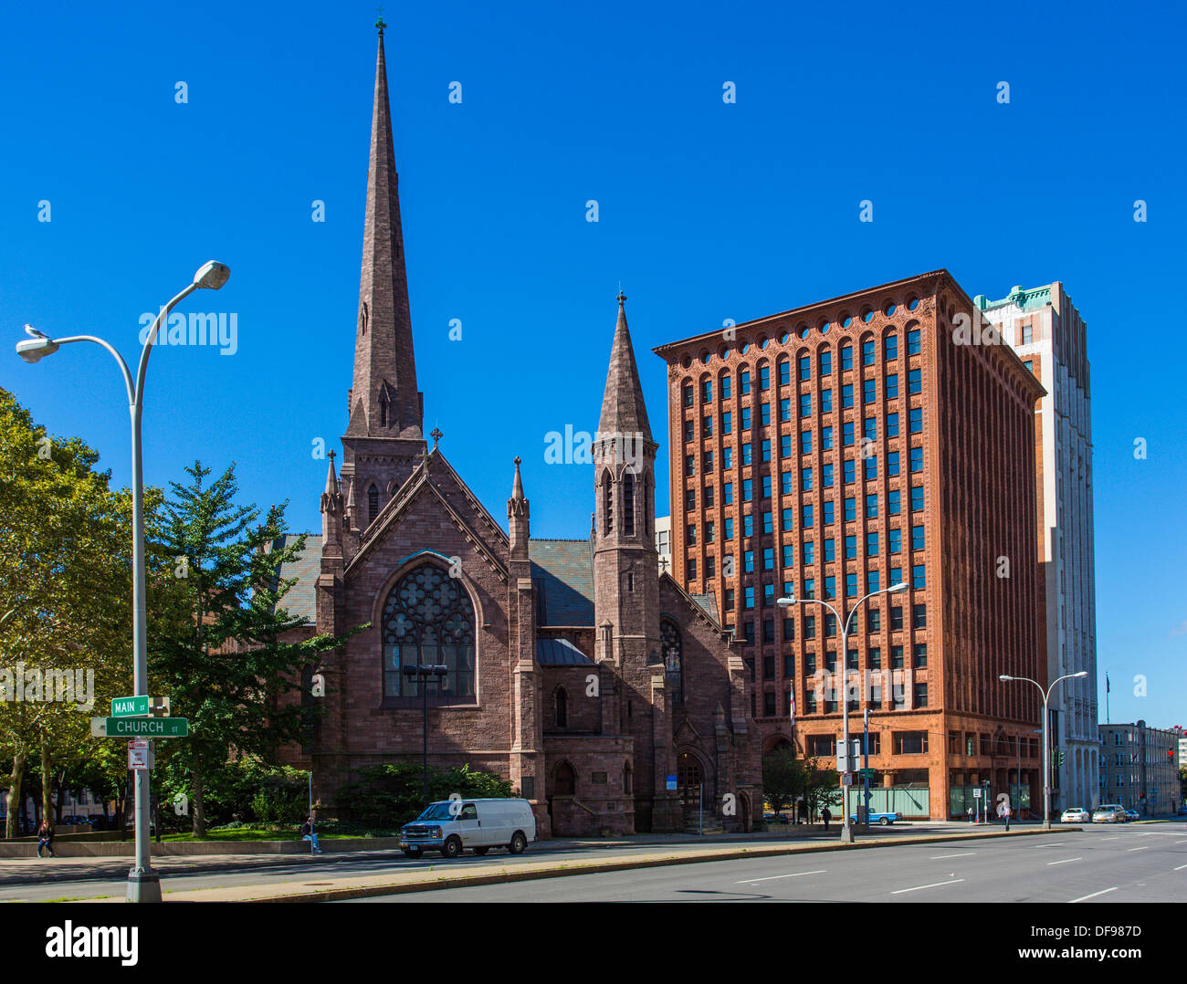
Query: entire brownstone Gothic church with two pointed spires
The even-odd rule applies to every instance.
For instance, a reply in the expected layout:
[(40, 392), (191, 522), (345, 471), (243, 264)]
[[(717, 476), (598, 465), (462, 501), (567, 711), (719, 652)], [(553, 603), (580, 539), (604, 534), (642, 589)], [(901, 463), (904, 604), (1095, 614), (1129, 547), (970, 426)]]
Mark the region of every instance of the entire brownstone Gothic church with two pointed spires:
[[(531, 800), (541, 837), (761, 823), (749, 675), (712, 596), (660, 574), (655, 453), (618, 296), (595, 439), (591, 528), (531, 537), (520, 459), (507, 531), (424, 434), (383, 25), (372, 119), (349, 421), (331, 452), (322, 535), (288, 608), (306, 631), (370, 628), (325, 655), (323, 715), (291, 761), (325, 813), (361, 767), (469, 763)], [(431, 394), (430, 394), (431, 399)], [(510, 451), (509, 451), (510, 455)], [(575, 518), (576, 519), (576, 518)], [(421, 681), (410, 667), (444, 667)], [(426, 690), (423, 692), (421, 687)]]

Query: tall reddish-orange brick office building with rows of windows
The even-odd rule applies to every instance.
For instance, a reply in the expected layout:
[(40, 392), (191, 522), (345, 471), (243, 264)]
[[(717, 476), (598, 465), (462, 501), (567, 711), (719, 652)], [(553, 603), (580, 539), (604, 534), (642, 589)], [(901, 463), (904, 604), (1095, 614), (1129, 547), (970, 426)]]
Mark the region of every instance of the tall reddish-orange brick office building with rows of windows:
[[(883, 801), (933, 818), (964, 815), (985, 782), (995, 801), (1041, 796), (1037, 694), (998, 674), (1047, 677), (1043, 391), (980, 326), (937, 271), (655, 349), (675, 579), (721, 599), (764, 751), (834, 764), (846, 679), (877, 785), (904, 792)], [(896, 583), (858, 611), (848, 654), (827, 609), (776, 607), (794, 593), (844, 617)]]

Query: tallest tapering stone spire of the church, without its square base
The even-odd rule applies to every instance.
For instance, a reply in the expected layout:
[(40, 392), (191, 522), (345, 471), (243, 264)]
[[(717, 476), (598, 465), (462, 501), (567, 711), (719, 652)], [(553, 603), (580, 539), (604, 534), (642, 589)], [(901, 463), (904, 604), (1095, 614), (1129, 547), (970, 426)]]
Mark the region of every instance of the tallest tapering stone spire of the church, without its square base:
[(375, 63), (367, 217), (363, 227), (355, 374), (350, 396), (351, 436), (423, 439), (421, 400), (412, 349), (408, 281), (404, 266), (399, 178), (383, 59), (382, 18)]

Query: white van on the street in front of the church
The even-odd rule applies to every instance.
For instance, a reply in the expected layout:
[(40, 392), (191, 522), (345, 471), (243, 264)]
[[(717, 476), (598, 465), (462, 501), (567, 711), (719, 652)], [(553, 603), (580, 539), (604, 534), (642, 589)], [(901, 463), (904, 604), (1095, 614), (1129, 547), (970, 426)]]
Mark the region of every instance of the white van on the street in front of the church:
[(520, 855), (533, 840), (535, 815), (527, 800), (442, 800), (400, 829), (400, 846), (407, 857), (440, 851), (443, 857), (455, 858), (466, 847), (476, 855), (491, 847)]

